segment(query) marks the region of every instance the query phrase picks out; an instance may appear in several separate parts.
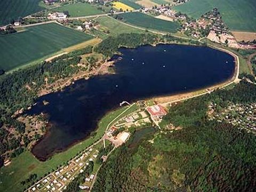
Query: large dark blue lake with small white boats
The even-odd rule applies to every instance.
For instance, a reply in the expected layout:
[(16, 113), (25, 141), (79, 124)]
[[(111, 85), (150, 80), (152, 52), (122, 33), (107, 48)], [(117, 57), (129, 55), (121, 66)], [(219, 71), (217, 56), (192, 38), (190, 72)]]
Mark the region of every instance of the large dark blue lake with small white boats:
[(44, 161), (85, 139), (99, 119), (124, 100), (200, 89), (227, 80), (235, 69), (231, 55), (210, 47), (147, 45), (120, 51), (123, 59), (115, 64), (116, 74), (78, 80), (62, 92), (40, 97), (27, 112), (49, 115), (51, 128), (32, 150), (38, 159)]

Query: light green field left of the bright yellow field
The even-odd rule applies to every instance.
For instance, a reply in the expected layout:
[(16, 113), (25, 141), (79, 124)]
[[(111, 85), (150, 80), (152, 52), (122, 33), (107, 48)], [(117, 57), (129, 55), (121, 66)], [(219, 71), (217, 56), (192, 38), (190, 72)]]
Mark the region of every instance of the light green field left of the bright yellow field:
[(68, 11), (70, 17), (82, 17), (82, 16), (97, 15), (97, 14), (103, 13), (102, 10), (97, 9), (97, 6), (91, 5), (89, 3), (76, 3), (76, 4), (65, 5), (65, 6), (52, 9), (51, 11), (53, 12)]

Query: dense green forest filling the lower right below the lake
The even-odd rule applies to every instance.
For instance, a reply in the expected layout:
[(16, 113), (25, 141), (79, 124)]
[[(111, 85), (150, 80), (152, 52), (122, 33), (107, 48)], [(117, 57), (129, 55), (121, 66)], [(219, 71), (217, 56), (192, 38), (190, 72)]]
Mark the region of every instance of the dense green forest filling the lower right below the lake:
[(179, 129), (152, 133), (135, 145), (130, 139), (103, 163), (92, 191), (253, 191), (255, 135), (210, 121), (207, 111), (210, 103), (255, 102), (256, 86), (242, 81), (172, 106), (161, 127)]

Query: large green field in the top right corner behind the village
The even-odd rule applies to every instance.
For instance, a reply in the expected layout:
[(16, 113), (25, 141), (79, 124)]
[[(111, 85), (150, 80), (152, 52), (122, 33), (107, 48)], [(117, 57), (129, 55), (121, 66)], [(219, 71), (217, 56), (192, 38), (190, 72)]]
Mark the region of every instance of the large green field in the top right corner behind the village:
[(190, 0), (175, 6), (176, 11), (199, 18), (202, 14), (217, 7), (231, 30), (256, 31), (256, 3), (255, 0)]

